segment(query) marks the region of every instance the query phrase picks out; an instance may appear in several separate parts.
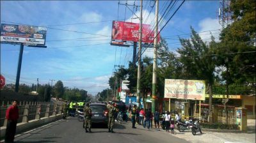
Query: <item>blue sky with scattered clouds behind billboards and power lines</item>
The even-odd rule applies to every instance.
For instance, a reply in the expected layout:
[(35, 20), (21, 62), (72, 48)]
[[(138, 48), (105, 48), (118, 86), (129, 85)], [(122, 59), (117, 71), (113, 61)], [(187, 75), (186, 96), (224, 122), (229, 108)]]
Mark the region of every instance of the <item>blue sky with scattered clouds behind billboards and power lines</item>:
[[(138, 8), (125, 6), (126, 2)], [(159, 19), (170, 2), (159, 1)], [(205, 42), (211, 38), (209, 31), (218, 38), (219, 1), (185, 1), (173, 15), (181, 3), (177, 1), (159, 22), (169, 50), (175, 52), (180, 47), (179, 37), (189, 38), (190, 27)], [(136, 15), (140, 16), (138, 0), (120, 1), (119, 6), (118, 1), (1, 1), (1, 24), (47, 28), (46, 49), (24, 46), (20, 84), (31, 86), (37, 78), (39, 84), (54, 85), (61, 80), (65, 87), (84, 89), (90, 94), (109, 88), (109, 77), (118, 70), (115, 65), (127, 67), (132, 61), (132, 46), (109, 43), (112, 20), (139, 23), (139, 19), (132, 19)], [(154, 1), (143, 1), (143, 24), (154, 27), (154, 19)], [(20, 45), (1, 43), (1, 75), (6, 84), (15, 84), (19, 50)], [(152, 50), (146, 49), (142, 57), (153, 57)]]

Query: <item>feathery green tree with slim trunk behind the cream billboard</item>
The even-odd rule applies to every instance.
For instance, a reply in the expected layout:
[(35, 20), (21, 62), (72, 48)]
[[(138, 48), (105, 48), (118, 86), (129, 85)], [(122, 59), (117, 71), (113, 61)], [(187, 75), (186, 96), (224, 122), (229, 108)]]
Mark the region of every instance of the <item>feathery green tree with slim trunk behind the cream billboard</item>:
[(207, 45), (202, 38), (191, 27), (191, 39), (180, 38), (182, 48), (177, 50), (180, 54), (180, 63), (184, 66), (182, 75), (188, 79), (205, 80), (209, 92), (209, 119), (212, 123), (212, 86), (214, 85), (215, 61), (213, 54), (216, 42), (212, 41)]

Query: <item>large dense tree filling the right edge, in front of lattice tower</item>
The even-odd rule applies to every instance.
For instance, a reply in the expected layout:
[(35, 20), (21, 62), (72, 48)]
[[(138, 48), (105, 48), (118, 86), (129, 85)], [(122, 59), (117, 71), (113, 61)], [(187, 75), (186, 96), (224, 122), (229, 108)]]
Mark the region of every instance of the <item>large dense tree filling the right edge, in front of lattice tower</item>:
[[(224, 102), (226, 123), (228, 123), (227, 103), (230, 85), (251, 87), (255, 92), (255, 1), (232, 0), (232, 24), (227, 26), (220, 35), (220, 44), (216, 49), (218, 66), (223, 66), (221, 76), (226, 85), (227, 99)], [(234, 54), (230, 54), (234, 53)], [(253, 90), (254, 89), (254, 90)], [(250, 93), (249, 93), (250, 94)]]

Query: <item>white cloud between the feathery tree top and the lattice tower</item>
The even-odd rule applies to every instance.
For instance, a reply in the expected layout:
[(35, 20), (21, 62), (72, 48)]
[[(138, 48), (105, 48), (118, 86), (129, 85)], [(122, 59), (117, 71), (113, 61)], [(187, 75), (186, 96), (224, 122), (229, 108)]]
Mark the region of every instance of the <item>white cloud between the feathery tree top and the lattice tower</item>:
[[(209, 31), (209, 32), (199, 33), (199, 35), (203, 40), (210, 41), (211, 40), (210, 33), (212, 33), (212, 36), (214, 36), (215, 40), (218, 41), (220, 31), (216, 31), (216, 29), (220, 29), (220, 26), (219, 26), (219, 21), (217, 19), (206, 18), (201, 20), (198, 25), (200, 27), (199, 32)], [(212, 31), (212, 30), (215, 30), (215, 31)]]

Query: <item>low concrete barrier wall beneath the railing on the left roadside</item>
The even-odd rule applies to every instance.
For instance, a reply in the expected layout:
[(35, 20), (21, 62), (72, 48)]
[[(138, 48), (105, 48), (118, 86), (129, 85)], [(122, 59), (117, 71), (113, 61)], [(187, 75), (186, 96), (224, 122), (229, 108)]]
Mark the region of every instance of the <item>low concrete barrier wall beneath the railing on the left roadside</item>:
[[(51, 123), (53, 121), (57, 121), (60, 119), (62, 119), (62, 114), (57, 114), (56, 116), (50, 116), (50, 117), (42, 117), (41, 119), (34, 119), (29, 121), (28, 123), (18, 123), (16, 128), (16, 134), (24, 132), (26, 130), (31, 130), (38, 126), (43, 126), (44, 124)], [(6, 126), (1, 126), (0, 127), (1, 139), (4, 139), (5, 131), (6, 131)]]

